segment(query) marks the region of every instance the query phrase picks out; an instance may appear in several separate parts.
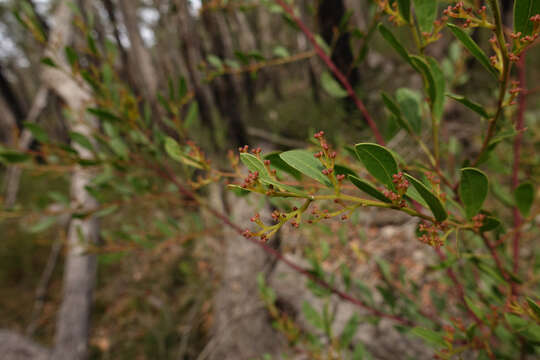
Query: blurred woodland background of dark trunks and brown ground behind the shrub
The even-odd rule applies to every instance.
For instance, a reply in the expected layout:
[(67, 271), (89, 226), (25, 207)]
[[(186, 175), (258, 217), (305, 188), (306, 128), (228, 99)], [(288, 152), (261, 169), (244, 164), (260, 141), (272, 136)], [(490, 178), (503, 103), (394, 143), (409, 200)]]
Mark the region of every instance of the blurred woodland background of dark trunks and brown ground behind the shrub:
[[(388, 146), (399, 149), (405, 159), (421, 156), (384, 110), (381, 90), (394, 94), (408, 88), (421, 99), (422, 78), (374, 28), (373, 19), (380, 15), (377, 3), (288, 3), (294, 4), (297, 16), (364, 101)], [(439, 3), (440, 9), (447, 6), (445, 1)], [(513, 2), (502, 1), (502, 5), (504, 21), (511, 24)], [(66, 6), (71, 14), (67, 22), (62, 18)], [(68, 28), (60, 38), (53, 38), (60, 25)], [(410, 35), (397, 29), (393, 31), (398, 40), (414, 47)], [(81, 67), (100, 68), (102, 64), (85, 53), (89, 38), (92, 46), (113, 57), (108, 58), (111, 76), (130, 89), (135, 107), (148, 109), (150, 121), (169, 125), (162, 120), (168, 114), (164, 103), (196, 102), (187, 125), (189, 138), (218, 166), (227, 163), (228, 149), (244, 144), (261, 146), (266, 152), (301, 148), (316, 130), (324, 130), (336, 148), (372, 139), (362, 114), (343, 96), (309, 39), (272, 0), (0, 0), (3, 147), (22, 147), (39, 155), (42, 145), (36, 131), (33, 138), (22, 136), (27, 123), (39, 124), (49, 139), (68, 142), (73, 131), (68, 110), (72, 103), (55, 89), (62, 84), (51, 83), (44, 69), (56, 65), (50, 55), (58, 50), (55, 42), (77, 53)], [(475, 32), (474, 38), (489, 48), (487, 31)], [(71, 51), (65, 51), (68, 59)], [(489, 73), (449, 33), (444, 32), (426, 51), (440, 61), (449, 92), (473, 94), (479, 103), (493, 102), (494, 87), (484, 86), (492, 81)], [(538, 50), (528, 54), (527, 81), (534, 91), (526, 121), (536, 130), (539, 61)], [(169, 100), (168, 95), (182, 87), (187, 97), (176, 103)], [(179, 113), (189, 117), (186, 111), (182, 108)], [(442, 146), (452, 155), (446, 160), (455, 168), (480, 148), (480, 141), (471, 136), (483, 129), (478, 121), (463, 106), (447, 103)], [(105, 132), (110, 135), (106, 128)], [(429, 143), (428, 128), (422, 136)], [(530, 144), (537, 146), (538, 135)], [(534, 147), (525, 151), (534, 163), (538, 157)], [(502, 151), (489, 166), (507, 166), (509, 156)], [(35, 352), (26, 358), (40, 358), (54, 344), (67, 258), (63, 244), (71, 214), (72, 169), (54, 165), (46, 157), (37, 161), (48, 166), (47, 171), (10, 170), (8, 165), (0, 169), (5, 209), (0, 216), (0, 329), (32, 339), (28, 346)], [(227, 166), (223, 165), (224, 171)], [(529, 174), (537, 176), (538, 168), (529, 169)], [(146, 186), (133, 186), (138, 185)], [(156, 192), (138, 198), (131, 187), (122, 186), (103, 190), (123, 197), (115, 200), (120, 210), (100, 214), (100, 246), (92, 249), (97, 277), (88, 327), (91, 359), (266, 359), (271, 353), (275, 358), (311, 358), (309, 351), (286, 345), (287, 340), (272, 327), (275, 319), (260, 301), (260, 281), (257, 285), (257, 274), (266, 274), (266, 281), (281, 294), (281, 308), (302, 323), (297, 312), (303, 303), (319, 301), (299, 285), (302, 277), (295, 278), (279, 262), (249, 247), (203, 209), (176, 199), (177, 195)], [(271, 209), (256, 197), (238, 200), (208, 190), (201, 194), (208, 201), (219, 197), (214, 203), (246, 226), (254, 213)], [(426, 285), (417, 289), (426, 306), (435, 306), (448, 289), (430, 286), (426, 269), (433, 255), (415, 240), (414, 226), (394, 213), (365, 211), (346, 224), (287, 229), (280, 235), (281, 250), (298, 263), (309, 264), (306, 259), (316, 257), (329, 272), (348, 264), (368, 287), (380, 279), (376, 258), (387, 263), (399, 259), (411, 277)], [(237, 278), (231, 280), (231, 273)], [(243, 285), (248, 290), (242, 290)], [(332, 311), (340, 314), (337, 326), (343, 329), (355, 310), (328, 301)], [(431, 356), (416, 340), (387, 324), (370, 323), (363, 334), (357, 340), (374, 358), (400, 358), (396, 351), (410, 358)], [(340, 358), (330, 356), (321, 358)]]

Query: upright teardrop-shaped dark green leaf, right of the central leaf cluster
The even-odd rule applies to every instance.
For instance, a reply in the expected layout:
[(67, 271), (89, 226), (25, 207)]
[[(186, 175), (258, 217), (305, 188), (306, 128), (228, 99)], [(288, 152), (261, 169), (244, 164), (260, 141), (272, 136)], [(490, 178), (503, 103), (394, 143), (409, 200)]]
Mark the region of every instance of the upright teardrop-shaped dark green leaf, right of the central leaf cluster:
[(475, 168), (461, 169), (459, 196), (468, 219), (471, 219), (482, 209), (488, 187), (488, 178), (482, 171)]

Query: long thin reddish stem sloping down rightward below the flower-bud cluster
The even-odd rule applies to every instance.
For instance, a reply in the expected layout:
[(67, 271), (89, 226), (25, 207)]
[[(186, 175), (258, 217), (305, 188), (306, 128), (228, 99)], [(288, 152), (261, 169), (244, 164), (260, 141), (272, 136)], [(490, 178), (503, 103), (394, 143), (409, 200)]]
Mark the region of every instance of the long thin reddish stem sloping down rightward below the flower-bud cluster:
[[(229, 219), (229, 217), (227, 217), (225, 214), (222, 214), (221, 212), (217, 211), (216, 209), (212, 208), (211, 206), (201, 202), (197, 198), (197, 196), (195, 196), (195, 194), (193, 192), (191, 192), (189, 189), (184, 187), (176, 179), (176, 177), (174, 176), (173, 172), (170, 169), (168, 169), (166, 167), (162, 168), (162, 167), (159, 167), (159, 166), (154, 165), (154, 164), (148, 164), (148, 165), (152, 169), (154, 169), (159, 176), (161, 176), (162, 178), (172, 182), (176, 186), (177, 190), (183, 196), (185, 196), (188, 199), (191, 199), (191, 200), (195, 201), (200, 206), (204, 206), (213, 216), (218, 218), (223, 224), (229, 226), (234, 231), (236, 231), (239, 235), (243, 236), (244, 230), (240, 226), (233, 223)], [(294, 271), (306, 276), (307, 278), (309, 278), (313, 282), (317, 283), (318, 285), (328, 289), (331, 293), (337, 295), (342, 300), (348, 301), (348, 302), (350, 302), (350, 303), (352, 303), (352, 304), (354, 304), (354, 305), (356, 305), (358, 307), (361, 307), (361, 308), (369, 311), (371, 314), (376, 315), (378, 317), (391, 319), (391, 320), (394, 320), (394, 321), (396, 321), (396, 322), (398, 322), (398, 323), (400, 323), (402, 325), (405, 325), (405, 326), (411, 326), (412, 327), (412, 326), (415, 325), (411, 320), (405, 319), (405, 318), (403, 318), (401, 316), (398, 316), (398, 315), (384, 313), (384, 312), (382, 312), (382, 311), (380, 311), (380, 310), (378, 310), (376, 308), (373, 308), (373, 307), (369, 306), (368, 304), (366, 304), (362, 300), (357, 299), (357, 298), (355, 298), (355, 297), (353, 297), (353, 296), (351, 296), (351, 295), (337, 289), (336, 287), (334, 287), (331, 284), (327, 283), (323, 279), (320, 279), (319, 277), (312, 274), (308, 269), (304, 269), (303, 267), (298, 266), (294, 262), (290, 261), (285, 256), (283, 256), (282, 253), (280, 253), (279, 251), (275, 250), (274, 248), (268, 246), (267, 244), (262, 243), (262, 242), (258, 241), (255, 238), (250, 237), (250, 238), (247, 238), (247, 239), (249, 241), (251, 241), (252, 243), (260, 246), (267, 254), (270, 254), (270, 255), (274, 256), (276, 259), (278, 259), (279, 261), (282, 261), (283, 263), (285, 263), (287, 266), (289, 266)]]

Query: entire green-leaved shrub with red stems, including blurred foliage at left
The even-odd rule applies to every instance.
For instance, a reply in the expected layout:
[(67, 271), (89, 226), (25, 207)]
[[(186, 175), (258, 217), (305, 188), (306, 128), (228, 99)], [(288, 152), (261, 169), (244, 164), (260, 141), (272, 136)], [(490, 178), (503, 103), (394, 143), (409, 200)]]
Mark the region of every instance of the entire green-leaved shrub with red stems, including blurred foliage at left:
[[(434, 1), (415, 0), (412, 4), (407, 0), (378, 1), (379, 11), (374, 15), (372, 28), (378, 26), (382, 38), (420, 74), (425, 97), (422, 101), (422, 96), (415, 91), (398, 89), (395, 97), (381, 93), (381, 101), (390, 123), (409, 135), (411, 143), (417, 144), (424, 153), (426, 162), (407, 162), (399, 153), (384, 146), (376, 122), (328, 56), (331, 47), (322, 44), (287, 3), (281, 0), (275, 3), (288, 22), (296, 24), (306, 34), (317, 55), (335, 76), (335, 80), (331, 76), (321, 79), (325, 90), (333, 96), (353, 99), (373, 130), (377, 143), (362, 142), (338, 151), (325, 138), (324, 132), (318, 132), (309, 149), (263, 155), (260, 149), (250, 150), (246, 146), (240, 149), (239, 156), (230, 153), (233, 171), (217, 169), (204, 152), (188, 140), (197, 105), (192, 102), (193, 93), (186, 82), (182, 79), (171, 81), (168, 94), (158, 96), (166, 115), (160, 117), (160, 124), (152, 121), (155, 114), (150, 106), (141, 106), (113, 70), (115, 46), (109, 42), (103, 49), (98, 46), (83, 18), (77, 16), (76, 24), (88, 44), (84, 49), (66, 48), (66, 59), (71, 67), (66, 71), (71, 71), (92, 90), (94, 103), (89, 104), (88, 113), (100, 120), (101, 128), (90, 138), (73, 132), (70, 139), (72, 145), (90, 150), (93, 159), (78, 158), (71, 145), (51, 139), (36, 124), (27, 124), (27, 128), (40, 141), (39, 151), (21, 153), (1, 149), (0, 157), (4, 162), (23, 167), (38, 166), (42, 171), (66, 171), (72, 165), (94, 168), (96, 177), (87, 190), (99, 201), (99, 208), (92, 213), (79, 213), (77, 209), (67, 211), (75, 217), (106, 217), (109, 224), (104, 224), (102, 235), (107, 243), (115, 238), (122, 241), (127, 238), (145, 247), (152, 246), (156, 236), (149, 234), (146, 224), (148, 214), (153, 211), (146, 211), (142, 216), (144, 220), (137, 218), (133, 225), (126, 227), (128, 218), (122, 209), (132, 208), (134, 203), (138, 207), (151, 204), (168, 209), (171, 205), (178, 208), (180, 204), (206, 207), (224, 224), (305, 275), (313, 293), (326, 301), (321, 311), (309, 303), (304, 304), (305, 317), (318, 329), (317, 333), (311, 334), (301, 330), (293, 319), (279, 310), (275, 294), (260, 279), (261, 293), (276, 320), (276, 327), (287, 335), (291, 344), (307, 349), (314, 358), (326, 355), (349, 357), (351, 350), (354, 358), (362, 358), (365, 353), (362, 344), (351, 345), (358, 325), (363, 321), (360, 316), (352, 316), (339, 335), (333, 331), (333, 315), (328, 303), (332, 294), (366, 310), (370, 316), (365, 321), (390, 319), (400, 331), (420, 336), (437, 348), (440, 358), (473, 353), (478, 357), (513, 359), (518, 353), (527, 355), (537, 351), (540, 307), (535, 295), (538, 282), (534, 274), (539, 266), (530, 257), (520, 257), (520, 244), (527, 235), (524, 229), (531, 226), (535, 215), (532, 207), (535, 190), (525, 178), (519, 182), (524, 173), (520, 170), (519, 160), (525, 129), (524, 57), (537, 41), (540, 3), (516, 1), (514, 29), (505, 31), (496, 1), (488, 1), (487, 8), (468, 8), (457, 3), (444, 10), (439, 19)], [(275, 7), (273, 10), (277, 11)], [(410, 28), (414, 50), (403, 46), (387, 26), (378, 24), (383, 13), (388, 14), (395, 26)], [(21, 14), (20, 19), (30, 30), (35, 30), (37, 23), (31, 16)], [(490, 44), (494, 56), (488, 57), (472, 39), (468, 32), (471, 28), (483, 28), (493, 33)], [(452, 45), (454, 56), (450, 59), (439, 61), (427, 55), (427, 47), (438, 41), (445, 29), (487, 70), (491, 77), (485, 82), (487, 90), (492, 91), (494, 84), (498, 87), (491, 104), (480, 105), (451, 93), (457, 81), (453, 71), (461, 57), (455, 55), (460, 46)], [(82, 57), (84, 61), (81, 61)], [(47, 66), (58, 66), (56, 62), (57, 59), (43, 59)], [(516, 62), (518, 82), (513, 82), (511, 68)], [(459, 76), (460, 82), (463, 75)], [(480, 150), (472, 157), (462, 154), (460, 169), (455, 169), (452, 162), (446, 160), (450, 155), (458, 155), (455, 145), (450, 146), (452, 141), (449, 141), (445, 146), (439, 140), (448, 99), (461, 103), (482, 119), (478, 132), (481, 132), (481, 126), (485, 127)], [(516, 99), (519, 101), (517, 112), (513, 106)], [(516, 121), (512, 122), (514, 112)], [(424, 142), (421, 136), (428, 123), (431, 124), (432, 144)], [(515, 158), (511, 171), (513, 194), (505, 191), (506, 182), (502, 177), (508, 167), (503, 166), (502, 172), (498, 173), (500, 166), (493, 166), (498, 149), (503, 150), (503, 154), (498, 155), (504, 156), (509, 147)], [(174, 163), (163, 156), (164, 152)], [(45, 165), (30, 163), (32, 156), (39, 156)], [(240, 161), (249, 171), (247, 177), (239, 166)], [(489, 179), (486, 172), (489, 172)], [(272, 213), (271, 224), (255, 215), (252, 218), (254, 228), (243, 229), (211, 208), (197, 193), (198, 189), (223, 178), (244, 178), (243, 182), (229, 185), (239, 194), (258, 193), (285, 203), (279, 203), (279, 210)], [(488, 196), (490, 188), (493, 197)], [(180, 193), (181, 199), (172, 196), (172, 191)], [(51, 198), (66, 201), (57, 193), (51, 194)], [(331, 218), (353, 221), (357, 210), (364, 207), (389, 209), (417, 218), (418, 239), (436, 252), (440, 262), (435, 269), (445, 274), (440, 282), (447, 284), (446, 288), (448, 285), (453, 287), (455, 296), (432, 293), (436, 311), (429, 311), (417, 300), (421, 284), (407, 280), (404, 269), (396, 276), (392, 273), (394, 266), (380, 260), (383, 283), (377, 286), (377, 292), (383, 302), (378, 304), (374, 301), (373, 290), (351, 276), (350, 267), (342, 266), (339, 278), (323, 270), (322, 261), (329, 256), (328, 245), (319, 252), (323, 255), (308, 253), (311, 267), (304, 269), (267, 244), (285, 224), (304, 228)], [(511, 220), (508, 220), (509, 212)], [(59, 214), (44, 215), (34, 230), (49, 227)], [(117, 215), (117, 222), (110, 220), (114, 215)], [(140, 231), (141, 226), (145, 227), (144, 232)], [(178, 218), (173, 215), (157, 221), (155, 227), (164, 234), (180, 231)], [(531, 233), (533, 231), (530, 229)], [(534, 248), (531, 251), (535, 253)], [(399, 278), (399, 284), (395, 278)], [(455, 301), (447, 301), (447, 297)]]

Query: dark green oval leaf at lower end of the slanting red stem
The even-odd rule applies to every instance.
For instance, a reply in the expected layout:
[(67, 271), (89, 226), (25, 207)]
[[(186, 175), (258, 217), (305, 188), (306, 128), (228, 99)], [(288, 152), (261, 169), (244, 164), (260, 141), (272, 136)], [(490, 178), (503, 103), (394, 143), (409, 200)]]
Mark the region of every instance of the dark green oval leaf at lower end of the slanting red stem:
[(392, 176), (398, 173), (398, 167), (392, 153), (383, 146), (372, 143), (356, 144), (354, 149), (367, 171), (387, 188), (395, 190)]

